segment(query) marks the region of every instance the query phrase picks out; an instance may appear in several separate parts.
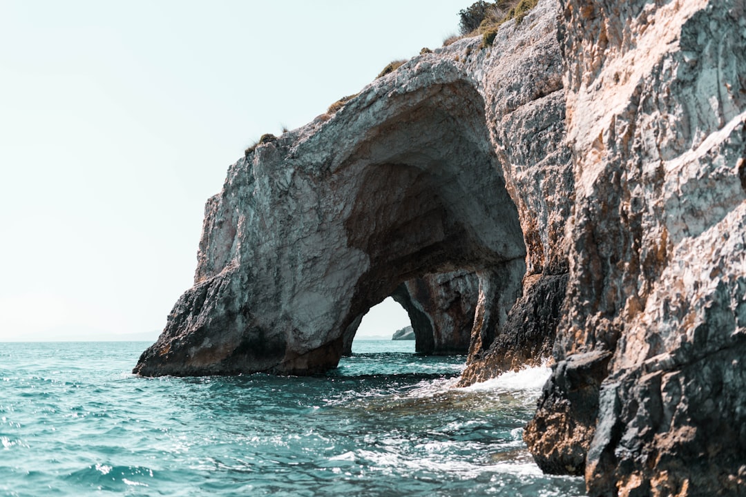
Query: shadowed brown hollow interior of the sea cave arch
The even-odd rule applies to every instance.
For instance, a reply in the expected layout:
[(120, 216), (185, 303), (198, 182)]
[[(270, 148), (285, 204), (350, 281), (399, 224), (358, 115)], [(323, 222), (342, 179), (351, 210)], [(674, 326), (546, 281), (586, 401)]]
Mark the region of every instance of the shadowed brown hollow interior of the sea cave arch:
[(466, 354), (473, 331), (481, 335), (475, 345), (486, 349), (520, 294), (525, 248), (517, 209), (481, 97), (458, 89), (473, 97), (466, 106), (424, 100), (392, 116), (342, 166), (340, 176), (359, 185), (345, 221), (348, 242), (371, 260), (355, 287), (354, 316), (345, 320), (343, 354), (369, 308), (386, 297), (409, 314), (416, 352)]

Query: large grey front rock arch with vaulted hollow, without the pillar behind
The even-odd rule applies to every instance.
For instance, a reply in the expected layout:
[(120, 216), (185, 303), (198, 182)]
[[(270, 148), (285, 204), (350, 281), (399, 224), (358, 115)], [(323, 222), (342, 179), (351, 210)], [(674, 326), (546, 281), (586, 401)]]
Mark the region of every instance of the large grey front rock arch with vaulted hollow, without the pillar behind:
[(137, 373), (336, 367), (369, 308), (428, 273), (477, 273), (474, 326), (504, 319), (526, 253), (483, 98), (427, 57), (390, 83), (231, 166), (207, 202), (195, 286)]

